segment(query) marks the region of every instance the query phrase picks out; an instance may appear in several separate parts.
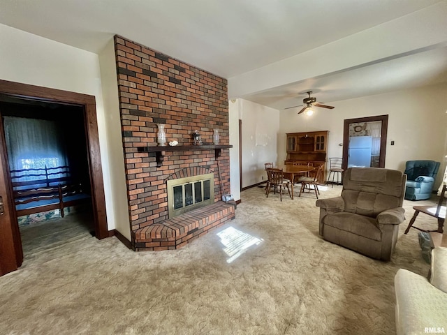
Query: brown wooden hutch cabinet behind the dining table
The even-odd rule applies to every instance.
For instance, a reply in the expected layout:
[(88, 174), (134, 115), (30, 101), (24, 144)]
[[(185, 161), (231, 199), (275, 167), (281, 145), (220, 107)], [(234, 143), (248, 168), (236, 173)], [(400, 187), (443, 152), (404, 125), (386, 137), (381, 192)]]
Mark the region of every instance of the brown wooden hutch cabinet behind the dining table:
[(308, 131), (306, 133), (288, 133), (286, 141), (287, 158), (285, 164), (324, 165), (323, 174), (318, 182), (325, 184), (326, 151), (329, 131)]

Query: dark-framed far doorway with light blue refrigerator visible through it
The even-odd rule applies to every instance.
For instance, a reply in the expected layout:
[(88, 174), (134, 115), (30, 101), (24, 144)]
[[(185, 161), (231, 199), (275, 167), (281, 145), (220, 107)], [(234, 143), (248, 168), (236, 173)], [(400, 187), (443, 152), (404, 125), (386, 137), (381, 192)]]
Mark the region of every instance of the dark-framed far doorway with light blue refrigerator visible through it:
[(342, 168), (385, 168), (387, 131), (388, 115), (345, 119)]

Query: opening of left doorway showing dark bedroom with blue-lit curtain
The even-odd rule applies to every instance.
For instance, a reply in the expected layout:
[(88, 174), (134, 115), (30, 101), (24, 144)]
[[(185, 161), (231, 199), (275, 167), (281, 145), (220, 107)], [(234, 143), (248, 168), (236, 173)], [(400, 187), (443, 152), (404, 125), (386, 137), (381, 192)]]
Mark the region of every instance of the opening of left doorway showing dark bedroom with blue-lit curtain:
[[(85, 234), (94, 236), (82, 107), (0, 94), (0, 114), (13, 192), (21, 194), (16, 216), (24, 258)], [(33, 184), (44, 180), (54, 183)], [(61, 201), (57, 185), (66, 186), (61, 188), (64, 203), (71, 200), (62, 209), (52, 208)]]

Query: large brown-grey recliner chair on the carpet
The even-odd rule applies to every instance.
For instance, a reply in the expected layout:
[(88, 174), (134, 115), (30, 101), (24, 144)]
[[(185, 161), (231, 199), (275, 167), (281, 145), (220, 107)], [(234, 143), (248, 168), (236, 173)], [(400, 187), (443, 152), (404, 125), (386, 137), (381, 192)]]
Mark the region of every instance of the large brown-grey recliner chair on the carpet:
[(383, 168), (349, 168), (342, 195), (316, 200), (319, 234), (326, 241), (377, 260), (390, 260), (399, 225), (406, 175)]

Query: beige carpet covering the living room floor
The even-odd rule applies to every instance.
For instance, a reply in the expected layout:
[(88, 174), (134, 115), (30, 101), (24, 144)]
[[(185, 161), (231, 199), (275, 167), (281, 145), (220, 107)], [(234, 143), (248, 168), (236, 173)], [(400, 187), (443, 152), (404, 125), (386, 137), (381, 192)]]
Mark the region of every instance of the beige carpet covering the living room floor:
[(135, 253), (85, 228), (43, 238), (46, 250), (24, 241), (22, 267), (0, 277), (0, 334), (395, 334), (397, 269), (429, 268), (417, 230), (403, 234), (414, 204), (390, 262), (323, 241), (315, 195), (279, 202), (263, 188), (178, 251)]

